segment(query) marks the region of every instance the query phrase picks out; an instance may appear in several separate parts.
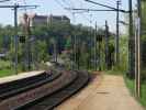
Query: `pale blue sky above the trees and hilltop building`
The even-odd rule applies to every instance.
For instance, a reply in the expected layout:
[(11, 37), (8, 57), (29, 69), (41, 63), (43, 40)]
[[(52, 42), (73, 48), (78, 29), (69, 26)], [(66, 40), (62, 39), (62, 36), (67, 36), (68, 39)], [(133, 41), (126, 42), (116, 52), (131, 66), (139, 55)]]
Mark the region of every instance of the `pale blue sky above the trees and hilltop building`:
[[(92, 0), (99, 3), (108, 4), (110, 7), (116, 8), (116, 0)], [(128, 10), (128, 0), (121, 0), (121, 9)], [(9, 2), (0, 3), (3, 4), (37, 4), (37, 9), (26, 10), (27, 13), (37, 13), (41, 15), (67, 15), (71, 23), (94, 26), (97, 22), (98, 28), (104, 28), (105, 20), (109, 23), (110, 31), (115, 32), (116, 23), (116, 12), (79, 12), (72, 15), (72, 11), (65, 10), (65, 8), (86, 8), (86, 9), (106, 9), (100, 6), (86, 2), (85, 0), (11, 0)], [(136, 0), (133, 0), (133, 7), (135, 7)], [(25, 10), (19, 10), (19, 15), (24, 13)], [(13, 10), (11, 9), (0, 9), (0, 24), (13, 25)], [(125, 20), (125, 14), (120, 14), (120, 20)], [(91, 22), (90, 22), (91, 21)], [(121, 24), (121, 33), (124, 33), (124, 26)]]

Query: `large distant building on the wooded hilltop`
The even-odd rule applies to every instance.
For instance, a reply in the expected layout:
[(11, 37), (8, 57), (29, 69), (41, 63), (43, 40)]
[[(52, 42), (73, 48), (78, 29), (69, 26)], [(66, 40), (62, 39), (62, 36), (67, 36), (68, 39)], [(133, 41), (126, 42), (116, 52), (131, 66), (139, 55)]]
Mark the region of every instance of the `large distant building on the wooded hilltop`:
[[(31, 26), (52, 24), (52, 23), (70, 23), (70, 19), (66, 15), (37, 15), (29, 14)], [(20, 23), (23, 22), (23, 15), (20, 18)]]

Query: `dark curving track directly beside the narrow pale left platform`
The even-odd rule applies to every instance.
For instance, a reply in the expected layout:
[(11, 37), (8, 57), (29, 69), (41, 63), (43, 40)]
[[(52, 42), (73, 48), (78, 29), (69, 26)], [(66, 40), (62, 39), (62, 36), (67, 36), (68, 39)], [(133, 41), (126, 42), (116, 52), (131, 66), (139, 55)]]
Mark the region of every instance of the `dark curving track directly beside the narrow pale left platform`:
[(46, 82), (49, 82), (60, 76), (60, 73), (46, 74), (43, 73), (35, 77), (30, 77), (22, 80), (15, 80), (12, 82), (7, 82), (0, 85), (0, 101), (13, 97), (18, 94), (25, 92), (30, 89), (42, 86)]

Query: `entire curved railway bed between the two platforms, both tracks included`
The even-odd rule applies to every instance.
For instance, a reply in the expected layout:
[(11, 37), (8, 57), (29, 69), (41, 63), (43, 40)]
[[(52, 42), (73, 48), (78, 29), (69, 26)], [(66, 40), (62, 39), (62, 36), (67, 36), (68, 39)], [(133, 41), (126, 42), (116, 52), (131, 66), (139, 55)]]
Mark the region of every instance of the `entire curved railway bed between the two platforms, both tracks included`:
[(50, 110), (81, 89), (89, 80), (86, 72), (57, 68), (53, 74), (45, 73), (0, 85), (0, 109)]

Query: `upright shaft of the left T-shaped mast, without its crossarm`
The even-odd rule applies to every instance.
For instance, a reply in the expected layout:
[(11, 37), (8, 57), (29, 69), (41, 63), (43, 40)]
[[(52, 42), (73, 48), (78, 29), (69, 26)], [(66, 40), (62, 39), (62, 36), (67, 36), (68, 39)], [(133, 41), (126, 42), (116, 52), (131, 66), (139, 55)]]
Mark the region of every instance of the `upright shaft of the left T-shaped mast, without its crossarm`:
[(15, 74), (18, 74), (18, 6), (14, 4), (14, 48), (15, 48)]

